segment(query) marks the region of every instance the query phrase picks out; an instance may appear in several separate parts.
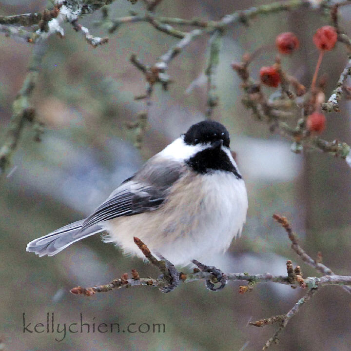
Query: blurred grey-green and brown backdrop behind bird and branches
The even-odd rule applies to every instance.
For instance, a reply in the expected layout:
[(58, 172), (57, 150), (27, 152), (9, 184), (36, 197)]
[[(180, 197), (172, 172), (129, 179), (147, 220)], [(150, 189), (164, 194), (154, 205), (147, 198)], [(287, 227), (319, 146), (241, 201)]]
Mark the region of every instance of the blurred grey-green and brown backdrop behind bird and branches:
[[(164, 0), (156, 13), (164, 16), (218, 20), (238, 9), (270, 1)], [(0, 15), (43, 11), (49, 3), (35, 0), (2, 0)], [(116, 0), (111, 18), (143, 12), (143, 3)], [(351, 32), (351, 6), (341, 9), (341, 28)], [(18, 150), (7, 174), (0, 179), (0, 335), (4, 350), (261, 350), (277, 326), (248, 326), (256, 320), (288, 312), (305, 291), (289, 286), (261, 283), (253, 292), (238, 294), (244, 283), (229, 283), (213, 293), (204, 282), (182, 284), (163, 294), (137, 287), (75, 296), (69, 289), (110, 282), (137, 269), (141, 276), (159, 272), (133, 257), (124, 257), (98, 235), (79, 241), (53, 257), (39, 258), (25, 251), (26, 244), (94, 210), (125, 178), (150, 156), (204, 118), (208, 37), (194, 40), (170, 64), (175, 82), (168, 91), (156, 85), (149, 106), (148, 128), (141, 150), (133, 146), (134, 134), (125, 127), (145, 109), (134, 96), (145, 91), (144, 76), (129, 62), (132, 53), (153, 64), (178, 39), (156, 31), (147, 23), (121, 26), (109, 35), (93, 22), (101, 11), (79, 22), (91, 34), (109, 36), (109, 43), (94, 49), (64, 24), (65, 38), (48, 41), (33, 105), (46, 130), (40, 143), (24, 128)], [(272, 215), (286, 215), (312, 257), (323, 254), (323, 263), (335, 273), (351, 274), (351, 169), (330, 155), (307, 152), (295, 155), (290, 143), (271, 135), (265, 123), (254, 120), (241, 104), (240, 79), (230, 67), (245, 52), (264, 46), (252, 64), (253, 77), (261, 66), (271, 65), (277, 34), (292, 31), (300, 48), (284, 57), (284, 68), (309, 86), (318, 52), (312, 43), (315, 30), (329, 24), (322, 12), (307, 10), (257, 17), (249, 26), (235, 25), (225, 34), (218, 67), (219, 105), (215, 119), (231, 133), (249, 196), (247, 223), (241, 238), (218, 258), (224, 272), (286, 274), (285, 263), (302, 267), (304, 276), (316, 273), (290, 249), (290, 241)], [(186, 30), (187, 28), (184, 28)], [(11, 105), (27, 72), (33, 46), (0, 36), (0, 143), (11, 117)], [(328, 73), (326, 96), (347, 63), (340, 43), (328, 52), (321, 74)], [(197, 79), (197, 80), (196, 80)], [(192, 82), (196, 80), (196, 84)], [(268, 94), (273, 93), (267, 89)], [(340, 113), (327, 115), (322, 137), (351, 143), (350, 101), (340, 104)], [(295, 123), (295, 121), (292, 121)], [(337, 287), (326, 287), (293, 317), (272, 350), (350, 350), (351, 296)], [(26, 324), (46, 326), (47, 313), (57, 323), (164, 323), (165, 332), (23, 333)], [(136, 327), (136, 328), (137, 328)], [(55, 327), (56, 328), (56, 327)], [(67, 327), (68, 328), (68, 327)]]

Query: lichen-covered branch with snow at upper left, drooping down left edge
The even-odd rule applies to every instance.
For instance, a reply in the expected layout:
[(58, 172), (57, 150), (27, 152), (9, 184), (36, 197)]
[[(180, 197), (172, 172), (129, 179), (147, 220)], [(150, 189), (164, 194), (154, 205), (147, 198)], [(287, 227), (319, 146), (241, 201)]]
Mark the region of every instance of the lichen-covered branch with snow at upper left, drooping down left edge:
[[(41, 60), (44, 55), (45, 39), (52, 34), (64, 36), (61, 23), (68, 21), (76, 25), (76, 30), (82, 31), (85, 39), (93, 46), (107, 42), (106, 38), (91, 36), (89, 30), (77, 25), (78, 17), (93, 13), (102, 6), (112, 3), (113, 0), (84, 1), (80, 0), (56, 0), (52, 10), (44, 10), (42, 14), (22, 14), (15, 16), (0, 17), (0, 33), (35, 44), (29, 72), (24, 79), (23, 86), (12, 105), (12, 117), (10, 119), (5, 140), (0, 148), (0, 173), (5, 170), (12, 153), (15, 151), (25, 120), (33, 121), (34, 109), (30, 106), (29, 99), (37, 83)], [(4, 23), (4, 24), (1, 24)], [(6, 25), (5, 25), (6, 24)], [(23, 30), (14, 25), (32, 26), (37, 25), (35, 32)], [(34, 122), (35, 140), (40, 140), (43, 131), (42, 122)]]

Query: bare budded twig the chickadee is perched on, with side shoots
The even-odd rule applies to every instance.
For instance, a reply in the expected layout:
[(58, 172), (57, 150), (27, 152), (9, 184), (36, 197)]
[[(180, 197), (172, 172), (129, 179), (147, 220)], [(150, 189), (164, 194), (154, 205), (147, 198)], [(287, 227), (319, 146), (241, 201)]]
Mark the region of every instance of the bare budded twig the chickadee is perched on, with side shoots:
[[(323, 265), (321, 262), (316, 262), (312, 260), (312, 258), (305, 253), (305, 251), (299, 246), (297, 243), (296, 235), (292, 232), (292, 228), (285, 217), (280, 215), (273, 215), (273, 218), (282, 225), (282, 227), (287, 232), (290, 241), (292, 242), (292, 250), (298, 254), (304, 262), (315, 268), (317, 271), (324, 273), (325, 275), (322, 277), (307, 277), (303, 278), (301, 273), (301, 268), (296, 266), (293, 268), (292, 262), (290, 260), (287, 261), (287, 273), (288, 275), (272, 275), (270, 273), (264, 274), (254, 274), (249, 275), (247, 273), (228, 273), (225, 274), (226, 280), (232, 281), (247, 281), (248, 286), (240, 286), (239, 293), (250, 292), (253, 290), (254, 285), (256, 283), (261, 282), (273, 282), (279, 284), (290, 285), (291, 287), (299, 286), (302, 289), (308, 289), (308, 292), (299, 299), (292, 309), (286, 314), (275, 315), (270, 318), (263, 318), (257, 320), (255, 322), (250, 322), (249, 325), (256, 327), (263, 327), (268, 324), (279, 323), (280, 326), (274, 335), (265, 343), (262, 350), (266, 350), (272, 344), (278, 342), (278, 336), (280, 332), (285, 329), (290, 319), (299, 311), (300, 307), (308, 302), (311, 297), (323, 286), (327, 285), (338, 285), (342, 286), (348, 292), (351, 291), (351, 276), (343, 276), (343, 275), (335, 275), (327, 266)], [(192, 282), (195, 280), (205, 280), (207, 281), (207, 285), (209, 281), (216, 283), (216, 277), (213, 273), (209, 273), (206, 270), (199, 270), (197, 268), (194, 269), (193, 273), (185, 274), (178, 273), (170, 262), (164, 259), (161, 256), (161, 260), (158, 260), (153, 254), (151, 254), (149, 248), (138, 238), (134, 238), (135, 243), (141, 252), (145, 255), (145, 257), (156, 266), (160, 272), (161, 276), (158, 278), (140, 278), (139, 273), (136, 270), (132, 270), (132, 278), (128, 277), (128, 273), (122, 274), (121, 278), (114, 279), (109, 284), (94, 286), (90, 288), (82, 288), (80, 286), (73, 288), (70, 290), (73, 294), (83, 294), (86, 296), (93, 296), (97, 292), (108, 292), (114, 289), (120, 288), (130, 288), (139, 285), (156, 287), (162, 292), (170, 292), (172, 291), (179, 282)], [(193, 260), (196, 264), (199, 263)], [(198, 267), (202, 267), (202, 264), (197, 264)], [(204, 266), (205, 267), (205, 266)], [(214, 268), (214, 267), (212, 267)], [(216, 269), (217, 270), (217, 269)], [(214, 271), (212, 271), (214, 272)], [(177, 284), (171, 284), (172, 278), (178, 276)], [(213, 283), (211, 283), (213, 285)], [(170, 289), (171, 287), (171, 289)], [(212, 290), (212, 289), (211, 289)], [(214, 291), (217, 291), (214, 289)]]

